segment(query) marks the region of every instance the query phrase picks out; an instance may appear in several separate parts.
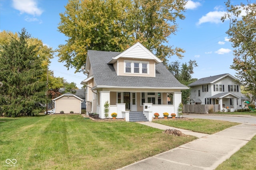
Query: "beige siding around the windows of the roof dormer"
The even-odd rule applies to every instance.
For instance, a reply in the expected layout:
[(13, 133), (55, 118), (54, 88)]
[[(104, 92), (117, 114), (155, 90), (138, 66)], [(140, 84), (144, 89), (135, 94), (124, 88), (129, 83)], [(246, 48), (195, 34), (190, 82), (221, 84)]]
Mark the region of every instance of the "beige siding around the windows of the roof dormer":
[[(124, 74), (124, 61), (134, 61), (134, 62), (149, 62), (149, 74)], [(116, 68), (115, 68), (116, 69)], [(131, 60), (131, 59), (118, 59), (118, 75), (119, 76), (146, 76), (146, 77), (155, 77), (155, 61), (154, 60)]]

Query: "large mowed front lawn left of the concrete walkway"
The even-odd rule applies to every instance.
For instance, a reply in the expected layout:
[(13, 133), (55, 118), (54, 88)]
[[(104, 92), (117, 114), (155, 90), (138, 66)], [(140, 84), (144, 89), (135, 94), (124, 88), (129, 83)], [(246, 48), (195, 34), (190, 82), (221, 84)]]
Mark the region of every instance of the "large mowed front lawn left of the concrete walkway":
[[(0, 169), (111, 170), (194, 139), (134, 122), (94, 122), (81, 115), (0, 117)], [(7, 159), (17, 162), (7, 164)]]

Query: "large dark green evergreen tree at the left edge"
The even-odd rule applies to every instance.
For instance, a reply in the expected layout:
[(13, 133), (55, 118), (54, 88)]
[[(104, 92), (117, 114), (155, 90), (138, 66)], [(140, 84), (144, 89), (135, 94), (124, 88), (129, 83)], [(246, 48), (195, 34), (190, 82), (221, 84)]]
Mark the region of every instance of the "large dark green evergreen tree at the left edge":
[(0, 114), (17, 117), (34, 115), (45, 102), (46, 83), (40, 81), (44, 69), (35, 45), (28, 45), (30, 35), (26, 29), (18, 39), (0, 47)]

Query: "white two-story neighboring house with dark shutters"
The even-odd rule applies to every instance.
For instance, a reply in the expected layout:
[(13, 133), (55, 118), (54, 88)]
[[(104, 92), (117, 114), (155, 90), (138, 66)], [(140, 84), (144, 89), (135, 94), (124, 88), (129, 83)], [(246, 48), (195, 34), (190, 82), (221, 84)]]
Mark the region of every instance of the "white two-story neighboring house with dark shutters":
[(242, 109), (248, 100), (241, 93), (243, 83), (230, 74), (204, 77), (189, 84), (190, 104), (219, 104), (220, 111), (227, 108)]

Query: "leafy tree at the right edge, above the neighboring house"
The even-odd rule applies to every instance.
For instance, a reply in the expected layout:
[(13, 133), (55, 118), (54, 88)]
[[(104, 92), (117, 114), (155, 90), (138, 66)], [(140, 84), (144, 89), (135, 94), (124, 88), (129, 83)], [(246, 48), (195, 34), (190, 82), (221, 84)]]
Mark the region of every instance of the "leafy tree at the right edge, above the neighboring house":
[(246, 90), (256, 94), (256, 2), (233, 6), (226, 2), (227, 13), (221, 18), (229, 20), (229, 40), (234, 47), (233, 64), (236, 76), (245, 83)]

